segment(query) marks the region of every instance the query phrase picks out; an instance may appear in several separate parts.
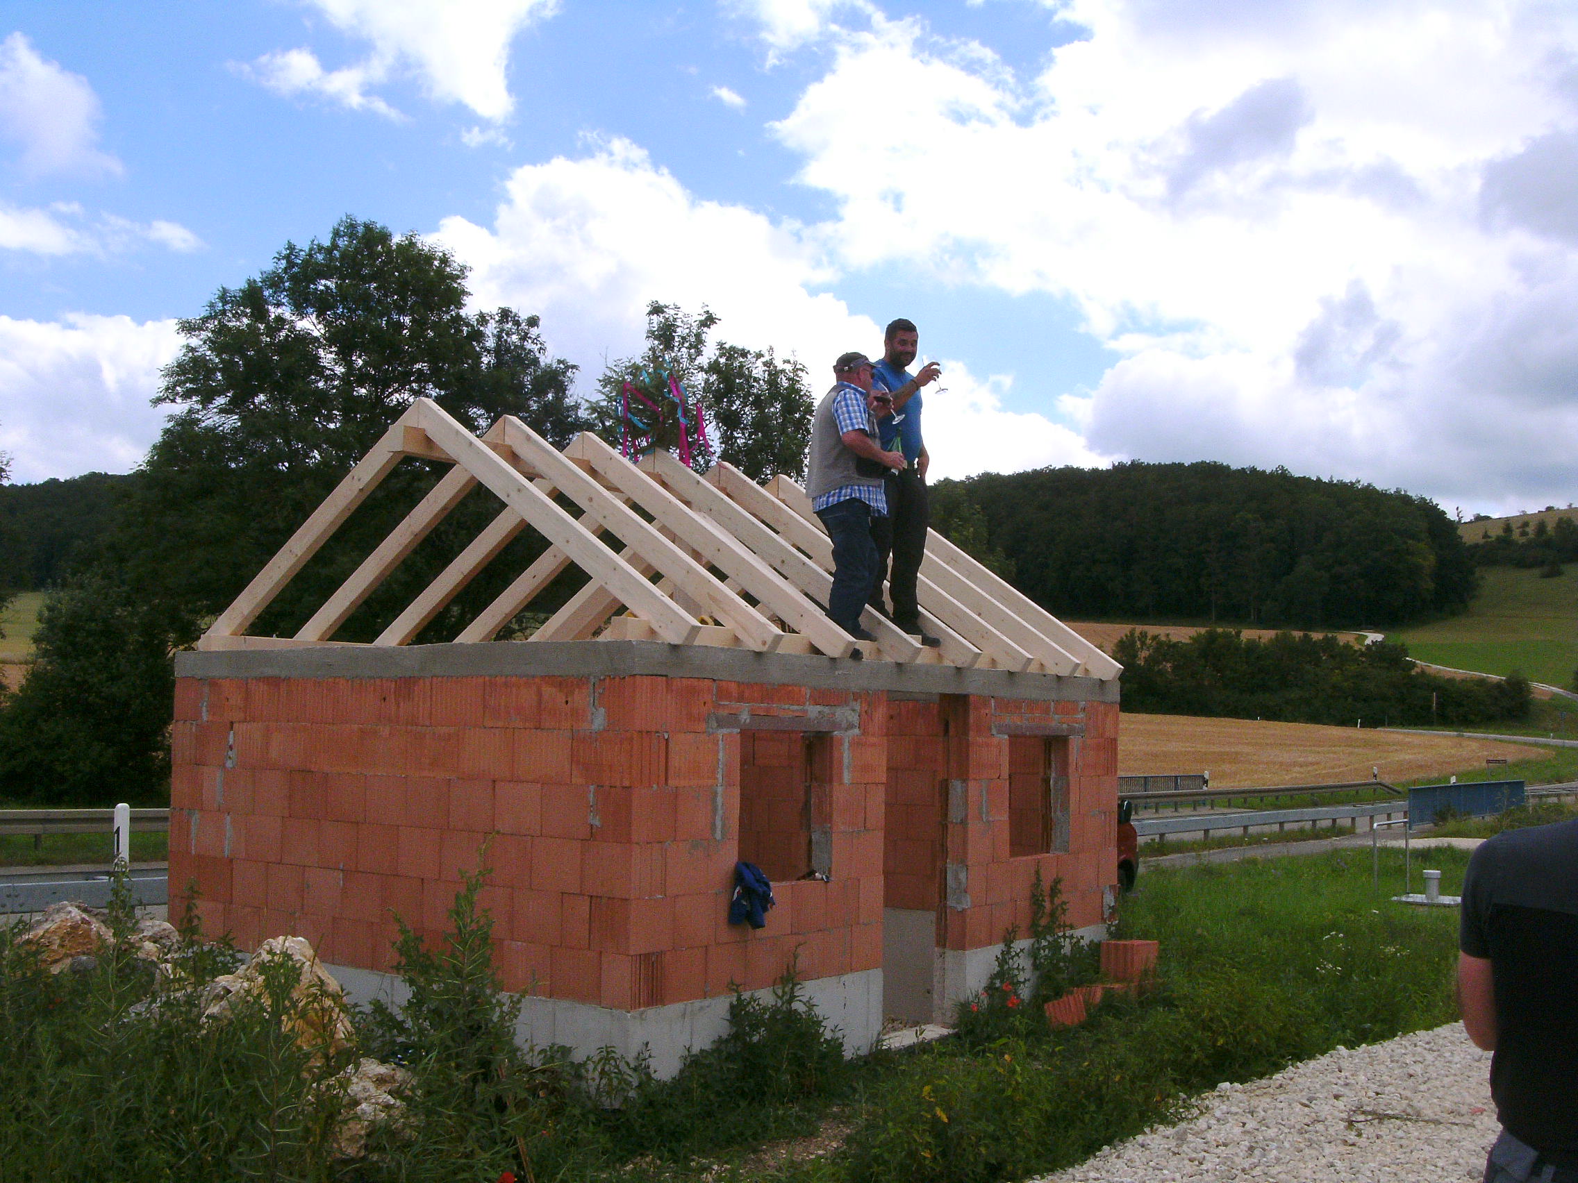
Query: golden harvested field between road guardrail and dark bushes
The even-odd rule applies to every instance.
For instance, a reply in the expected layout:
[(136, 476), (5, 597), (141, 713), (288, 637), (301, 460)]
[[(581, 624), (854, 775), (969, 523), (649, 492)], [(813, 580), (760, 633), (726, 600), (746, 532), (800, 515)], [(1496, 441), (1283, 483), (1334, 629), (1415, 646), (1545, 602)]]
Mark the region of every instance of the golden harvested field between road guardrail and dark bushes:
[(1209, 771), (1212, 789), (1368, 781), (1371, 767), (1381, 768), (1382, 781), (1412, 781), (1483, 765), (1486, 756), (1512, 762), (1537, 760), (1545, 752), (1455, 735), (1127, 711), (1117, 737), (1119, 774)]

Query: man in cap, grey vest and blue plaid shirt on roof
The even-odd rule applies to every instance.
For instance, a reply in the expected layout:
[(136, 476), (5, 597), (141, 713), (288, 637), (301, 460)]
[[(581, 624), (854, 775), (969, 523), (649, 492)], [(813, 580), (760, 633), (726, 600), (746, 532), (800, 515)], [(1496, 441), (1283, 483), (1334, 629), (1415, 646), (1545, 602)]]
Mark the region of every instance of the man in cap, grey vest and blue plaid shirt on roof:
[[(871, 360), (843, 353), (838, 379), (811, 416), (811, 508), (833, 539), (833, 590), (827, 615), (855, 640), (876, 640), (860, 626), (860, 614), (882, 579), (871, 522), (885, 517), (884, 475), (904, 467), (904, 453), (877, 443), (877, 418), (892, 413), (887, 391), (871, 390)], [(858, 650), (855, 650), (858, 655)]]

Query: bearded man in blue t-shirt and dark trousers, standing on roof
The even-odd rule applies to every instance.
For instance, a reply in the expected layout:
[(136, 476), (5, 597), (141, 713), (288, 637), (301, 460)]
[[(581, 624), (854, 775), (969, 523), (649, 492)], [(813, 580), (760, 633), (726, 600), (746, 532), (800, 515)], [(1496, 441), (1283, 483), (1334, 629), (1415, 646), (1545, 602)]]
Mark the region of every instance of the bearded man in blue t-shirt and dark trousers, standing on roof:
[[(937, 645), (937, 639), (920, 628), (920, 604), (915, 598), (915, 579), (920, 576), (920, 560), (926, 554), (926, 528), (931, 525), (931, 508), (926, 502), (926, 468), (931, 456), (920, 435), (920, 388), (937, 380), (939, 366), (928, 361), (915, 375), (907, 366), (915, 360), (920, 333), (912, 320), (899, 317), (882, 334), (882, 360), (871, 369), (871, 388), (885, 390), (893, 396), (893, 413), (877, 420), (882, 446), (903, 451), (907, 464), (887, 475), (888, 516), (876, 524), (874, 536), (879, 552), (877, 569), (888, 576), (888, 596), (893, 599), (893, 623), (911, 634), (920, 636), (923, 645)], [(892, 555), (892, 571), (888, 557)], [(882, 579), (871, 592), (871, 606), (885, 610), (882, 603)]]

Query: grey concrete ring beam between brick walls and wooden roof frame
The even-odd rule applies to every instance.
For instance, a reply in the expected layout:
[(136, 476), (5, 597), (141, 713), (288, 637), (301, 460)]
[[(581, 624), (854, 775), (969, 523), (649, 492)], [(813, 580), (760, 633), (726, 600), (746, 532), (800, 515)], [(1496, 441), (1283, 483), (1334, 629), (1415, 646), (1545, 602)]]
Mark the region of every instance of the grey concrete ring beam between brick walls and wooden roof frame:
[(183, 678), (464, 678), (650, 674), (778, 686), (907, 694), (980, 694), (1037, 702), (1117, 702), (1117, 680), (1002, 669), (847, 661), (658, 640), (491, 640), (475, 645), (303, 645), (175, 655)]

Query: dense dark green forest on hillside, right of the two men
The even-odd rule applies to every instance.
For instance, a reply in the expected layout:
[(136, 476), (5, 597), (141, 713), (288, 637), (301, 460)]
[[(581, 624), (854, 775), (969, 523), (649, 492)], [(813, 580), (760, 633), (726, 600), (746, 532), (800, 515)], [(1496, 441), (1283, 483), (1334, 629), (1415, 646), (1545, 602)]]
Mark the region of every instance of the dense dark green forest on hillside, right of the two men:
[(940, 481), (934, 525), (1068, 618), (1393, 628), (1461, 612), (1475, 571), (1433, 502), (1225, 464)]

